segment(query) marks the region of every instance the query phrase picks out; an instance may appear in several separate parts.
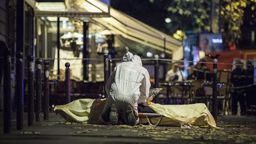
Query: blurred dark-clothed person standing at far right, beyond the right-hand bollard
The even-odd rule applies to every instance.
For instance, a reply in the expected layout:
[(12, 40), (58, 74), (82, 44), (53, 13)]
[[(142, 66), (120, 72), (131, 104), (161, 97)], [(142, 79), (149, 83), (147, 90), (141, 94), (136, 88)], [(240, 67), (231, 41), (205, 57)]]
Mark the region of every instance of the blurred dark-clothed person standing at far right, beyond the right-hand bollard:
[[(231, 83), (233, 87), (240, 87), (244, 85), (243, 75), (245, 74), (244, 69), (242, 69), (242, 62), (240, 60), (236, 61), (236, 68), (233, 69), (231, 73)], [(235, 88), (231, 91), (232, 97), (232, 115), (237, 114), (238, 101), (241, 109), (241, 115), (245, 115), (245, 96), (243, 88)]]

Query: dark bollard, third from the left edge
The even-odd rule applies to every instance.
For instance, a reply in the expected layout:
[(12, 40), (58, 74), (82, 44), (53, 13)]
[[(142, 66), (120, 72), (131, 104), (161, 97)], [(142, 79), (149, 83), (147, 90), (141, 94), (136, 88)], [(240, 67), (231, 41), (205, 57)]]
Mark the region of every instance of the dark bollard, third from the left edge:
[(34, 57), (28, 59), (28, 126), (34, 125)]

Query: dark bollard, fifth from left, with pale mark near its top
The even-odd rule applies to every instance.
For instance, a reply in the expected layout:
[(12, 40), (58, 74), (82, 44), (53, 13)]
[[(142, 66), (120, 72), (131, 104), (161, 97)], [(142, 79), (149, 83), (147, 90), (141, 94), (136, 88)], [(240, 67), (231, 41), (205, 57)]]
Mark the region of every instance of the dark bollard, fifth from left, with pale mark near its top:
[(44, 120), (49, 120), (49, 62), (44, 60)]

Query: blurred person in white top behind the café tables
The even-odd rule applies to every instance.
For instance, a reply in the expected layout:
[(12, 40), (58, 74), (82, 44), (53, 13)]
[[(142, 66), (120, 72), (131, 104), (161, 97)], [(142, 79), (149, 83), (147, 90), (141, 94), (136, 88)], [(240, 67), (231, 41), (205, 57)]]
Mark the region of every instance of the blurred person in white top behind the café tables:
[(184, 73), (180, 70), (178, 63), (173, 63), (172, 69), (167, 72), (165, 81), (184, 81)]

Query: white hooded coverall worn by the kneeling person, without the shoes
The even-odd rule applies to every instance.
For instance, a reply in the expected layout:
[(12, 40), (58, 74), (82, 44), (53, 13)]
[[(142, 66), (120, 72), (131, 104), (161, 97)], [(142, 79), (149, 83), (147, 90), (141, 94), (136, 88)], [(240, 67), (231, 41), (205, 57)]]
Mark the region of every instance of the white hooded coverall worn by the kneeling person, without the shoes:
[[(105, 89), (108, 100), (103, 113), (105, 113), (112, 104), (116, 105), (117, 111), (125, 111), (127, 105), (130, 105), (137, 113), (137, 105), (146, 103), (148, 99), (149, 89), (151, 87), (149, 72), (142, 66), (142, 60), (139, 56), (135, 55), (131, 59), (129, 59), (129, 56), (132, 55), (127, 55), (127, 53), (124, 55), (124, 62), (119, 63), (114, 68), (114, 71), (107, 81)], [(125, 119), (124, 115), (125, 114), (123, 114), (123, 117)], [(139, 123), (139, 119), (137, 119), (136, 124), (137, 123)]]

